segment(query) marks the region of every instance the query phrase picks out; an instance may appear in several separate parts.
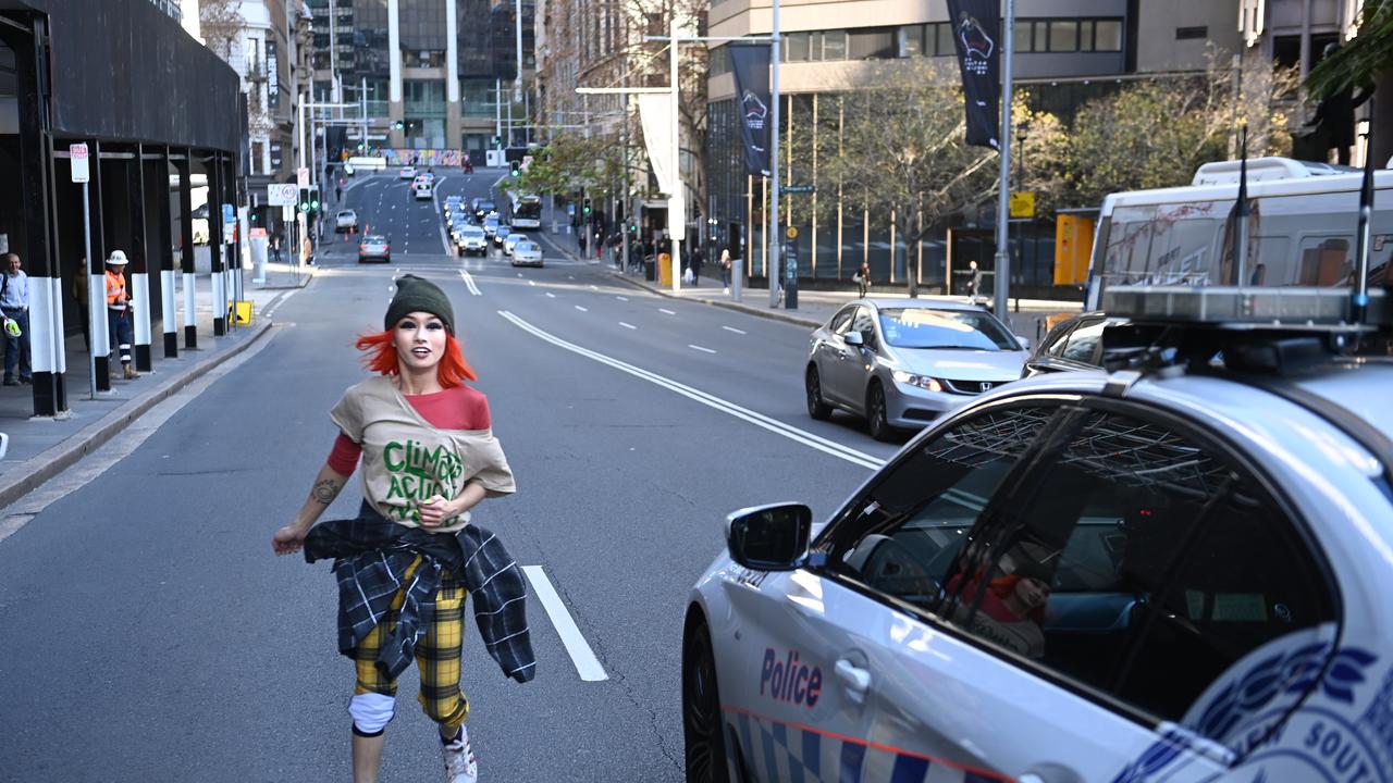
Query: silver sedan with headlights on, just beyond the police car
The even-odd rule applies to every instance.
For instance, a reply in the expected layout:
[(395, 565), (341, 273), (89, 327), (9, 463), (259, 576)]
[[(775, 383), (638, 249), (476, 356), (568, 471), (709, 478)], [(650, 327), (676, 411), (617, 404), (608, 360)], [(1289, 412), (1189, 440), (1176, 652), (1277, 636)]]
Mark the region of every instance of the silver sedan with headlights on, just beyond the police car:
[(928, 300), (858, 300), (809, 340), (808, 415), (865, 417), (871, 436), (922, 428), (975, 394), (1021, 376), (1025, 340), (981, 307)]

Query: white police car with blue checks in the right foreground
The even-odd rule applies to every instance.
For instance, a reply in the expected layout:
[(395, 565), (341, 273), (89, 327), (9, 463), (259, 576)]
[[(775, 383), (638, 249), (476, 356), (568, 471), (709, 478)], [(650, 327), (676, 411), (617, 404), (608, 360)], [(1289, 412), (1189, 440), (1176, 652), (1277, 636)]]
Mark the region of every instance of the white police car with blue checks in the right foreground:
[(688, 780), (1393, 780), (1386, 298), (1106, 301), (1105, 371), (972, 400), (822, 527), (730, 515)]

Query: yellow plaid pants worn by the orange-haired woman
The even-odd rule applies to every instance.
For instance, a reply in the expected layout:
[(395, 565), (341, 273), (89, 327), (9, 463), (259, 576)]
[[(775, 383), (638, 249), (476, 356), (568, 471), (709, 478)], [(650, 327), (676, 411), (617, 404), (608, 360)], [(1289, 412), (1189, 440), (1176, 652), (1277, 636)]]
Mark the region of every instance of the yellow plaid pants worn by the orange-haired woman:
[[(421, 557), (411, 564), (403, 582), (410, 582)], [(382, 623), (364, 637), (354, 652), (358, 681), (354, 694), (397, 695), (397, 683), (378, 669), (378, 651), (397, 624), (405, 588), (397, 591), (391, 610)], [(426, 635), (417, 644), (417, 670), (421, 673), (421, 692), (417, 701), (426, 716), (449, 729), (456, 729), (469, 716), (469, 701), (460, 687), (460, 658), (464, 644), (464, 598), (468, 591), (449, 574), (442, 573), (436, 594), (435, 616), (426, 624)]]

